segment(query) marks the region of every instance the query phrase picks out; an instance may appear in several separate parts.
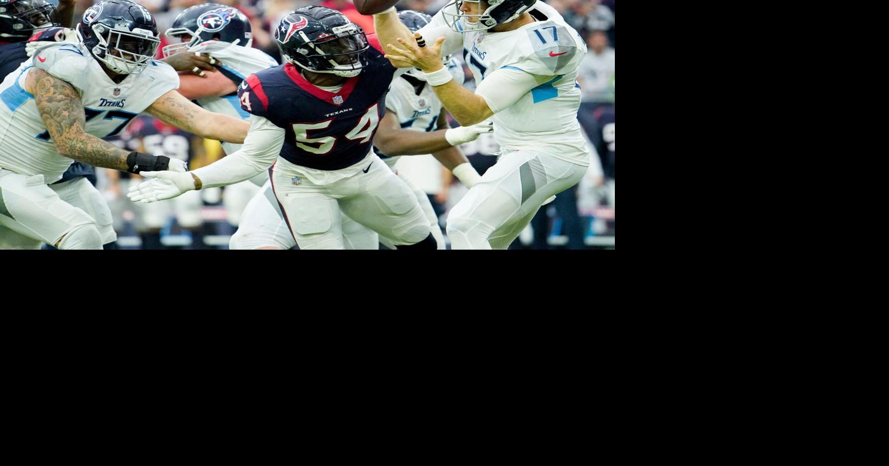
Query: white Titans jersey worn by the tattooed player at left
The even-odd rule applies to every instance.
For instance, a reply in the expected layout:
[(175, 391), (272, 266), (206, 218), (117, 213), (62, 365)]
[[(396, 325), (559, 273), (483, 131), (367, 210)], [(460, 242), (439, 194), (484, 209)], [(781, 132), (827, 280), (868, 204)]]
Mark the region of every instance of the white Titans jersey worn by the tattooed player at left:
[(179, 75), (159, 61), (115, 83), (82, 44), (53, 44), (37, 51), (0, 84), (0, 167), (21, 175), (43, 174), (47, 184), (58, 181), (73, 160), (56, 150), (34, 96), (25, 91), (31, 67), (75, 87), (84, 105), (85, 130), (98, 138), (116, 136), (156, 99), (179, 89)]

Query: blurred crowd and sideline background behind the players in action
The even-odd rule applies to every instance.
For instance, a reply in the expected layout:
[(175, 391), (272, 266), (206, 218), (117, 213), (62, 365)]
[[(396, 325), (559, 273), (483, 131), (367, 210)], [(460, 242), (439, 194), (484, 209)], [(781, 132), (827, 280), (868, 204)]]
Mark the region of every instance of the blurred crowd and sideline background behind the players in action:
[[(57, 0), (50, 0), (58, 3)], [(544, 0), (562, 14), (565, 20), (587, 40), (589, 51), (581, 65), (582, 104), (578, 114), (583, 130), (594, 152), (587, 177), (578, 186), (558, 194), (556, 201), (541, 208), (532, 225), (525, 230), (510, 249), (599, 249), (614, 247), (614, 4), (616, 0)], [(79, 0), (75, 19), (98, 0)], [(176, 16), (196, 4), (196, 0), (142, 0), (156, 15), (157, 28), (170, 28)], [(373, 31), (370, 16), (359, 14), (352, 0), (217, 0), (215, 3), (235, 6), (250, 18), (253, 30), (252, 46), (267, 52), (280, 63), (281, 56), (273, 42), (271, 31), (287, 13), (300, 6), (321, 4), (344, 13), (350, 20)], [(434, 15), (449, 0), (403, 0), (399, 10), (417, 10)], [(164, 38), (163, 46), (168, 43)], [(160, 58), (160, 56), (158, 57)], [(462, 59), (460, 54), (457, 59)], [(472, 73), (464, 64), (466, 87), (475, 88)], [(452, 122), (454, 126), (456, 122)], [(188, 160), (192, 169), (211, 163), (224, 155), (217, 141), (166, 127), (151, 117), (135, 119), (121, 138), (112, 142), (132, 150), (149, 154), (163, 154)], [(470, 162), (479, 173), (493, 166), (499, 147), (491, 135), (462, 146)], [(426, 191), (441, 225), (449, 209), (460, 201), (466, 187), (453, 178), (431, 156), (402, 157), (397, 169)], [(121, 249), (228, 249), (228, 238), (234, 233), (252, 191), (244, 184), (199, 192), (200, 197), (180, 204), (168, 203), (162, 209), (143, 210), (129, 201), (125, 193), (131, 183), (138, 183), (137, 175), (115, 170), (97, 170), (95, 183), (106, 195), (115, 217), (118, 246)], [(258, 188), (256, 188), (258, 189)], [(227, 192), (228, 190), (228, 192)], [(183, 196), (184, 197), (184, 196)], [(183, 213), (190, 212), (190, 213)], [(196, 213), (195, 213), (196, 212)], [(148, 221), (146, 221), (148, 219)], [(151, 230), (154, 234), (146, 235)], [(160, 231), (159, 242), (156, 241)], [(148, 240), (152, 238), (152, 240)], [(150, 242), (149, 242), (150, 241)]]

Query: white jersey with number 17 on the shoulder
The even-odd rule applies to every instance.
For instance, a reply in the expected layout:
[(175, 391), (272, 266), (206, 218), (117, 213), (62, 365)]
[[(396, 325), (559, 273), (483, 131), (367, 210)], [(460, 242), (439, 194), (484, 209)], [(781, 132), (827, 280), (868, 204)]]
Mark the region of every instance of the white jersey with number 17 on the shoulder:
[(445, 36), (442, 53), (460, 51), (477, 85), (501, 68), (551, 76), (511, 107), (493, 115), (494, 137), (504, 148), (539, 150), (589, 165), (589, 151), (577, 121), (581, 107), (577, 75), (587, 45), (548, 4), (539, 1), (529, 12), (537, 20), (512, 31), (463, 33), (449, 28), (443, 13), (438, 12), (420, 33), (427, 42)]

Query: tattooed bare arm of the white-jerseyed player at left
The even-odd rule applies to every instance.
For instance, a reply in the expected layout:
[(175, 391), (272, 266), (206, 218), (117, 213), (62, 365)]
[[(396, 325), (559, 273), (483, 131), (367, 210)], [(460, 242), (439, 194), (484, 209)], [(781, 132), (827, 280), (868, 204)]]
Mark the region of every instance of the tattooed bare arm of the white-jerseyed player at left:
[(32, 76), (37, 111), (60, 155), (97, 167), (127, 170), (129, 153), (84, 130), (84, 105), (71, 84), (42, 69), (32, 68), (28, 80)]

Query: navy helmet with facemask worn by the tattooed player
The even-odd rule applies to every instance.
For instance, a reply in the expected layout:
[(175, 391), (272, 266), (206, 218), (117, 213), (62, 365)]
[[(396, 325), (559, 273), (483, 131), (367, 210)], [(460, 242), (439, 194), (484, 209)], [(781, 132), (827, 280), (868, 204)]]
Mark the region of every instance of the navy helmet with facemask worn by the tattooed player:
[(95, 59), (118, 75), (141, 73), (161, 43), (155, 18), (144, 6), (127, 0), (92, 5), (77, 24), (77, 36)]

